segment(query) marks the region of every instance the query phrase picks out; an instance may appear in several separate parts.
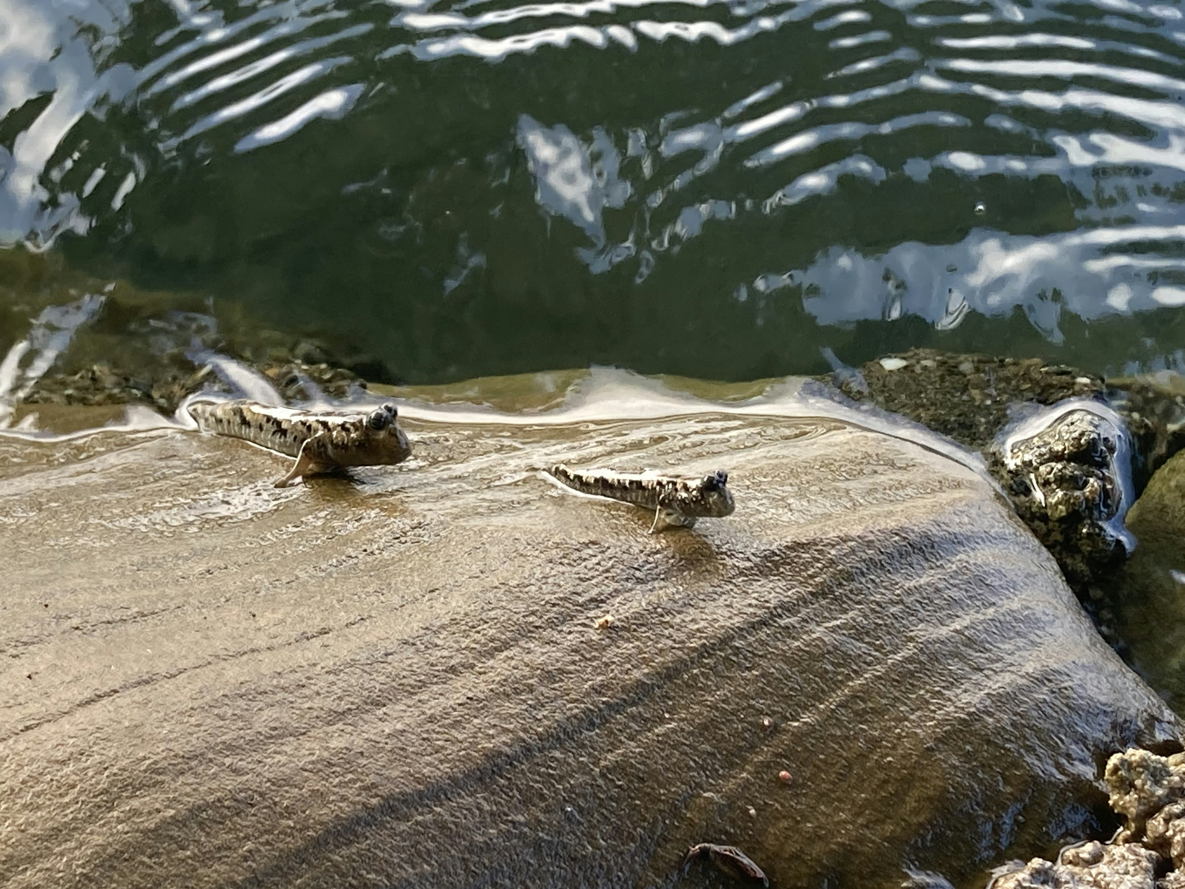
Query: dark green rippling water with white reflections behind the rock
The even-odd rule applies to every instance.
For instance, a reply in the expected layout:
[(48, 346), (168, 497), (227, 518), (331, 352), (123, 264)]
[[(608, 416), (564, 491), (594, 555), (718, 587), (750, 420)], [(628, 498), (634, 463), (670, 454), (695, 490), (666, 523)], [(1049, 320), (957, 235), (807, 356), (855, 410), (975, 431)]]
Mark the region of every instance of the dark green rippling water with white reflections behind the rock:
[(408, 382), (1183, 370), (1183, 8), (0, 0), (0, 241)]

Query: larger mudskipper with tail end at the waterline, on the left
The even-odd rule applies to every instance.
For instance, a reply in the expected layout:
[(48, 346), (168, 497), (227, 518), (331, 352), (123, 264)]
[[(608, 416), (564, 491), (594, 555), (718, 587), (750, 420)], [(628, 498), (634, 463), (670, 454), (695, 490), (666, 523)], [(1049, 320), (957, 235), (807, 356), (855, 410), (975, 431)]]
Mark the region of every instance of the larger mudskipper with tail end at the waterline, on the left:
[(411, 454), (393, 404), (373, 410), (310, 411), (250, 401), (194, 401), (186, 409), (203, 431), (296, 458), (276, 487), (341, 466), (391, 466)]

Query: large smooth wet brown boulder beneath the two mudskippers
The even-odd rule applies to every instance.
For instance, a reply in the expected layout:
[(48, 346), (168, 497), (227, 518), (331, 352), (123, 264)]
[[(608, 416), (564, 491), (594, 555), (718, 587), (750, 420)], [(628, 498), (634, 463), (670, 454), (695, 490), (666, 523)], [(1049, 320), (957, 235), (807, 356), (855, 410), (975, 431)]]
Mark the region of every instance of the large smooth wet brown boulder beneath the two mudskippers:
[[(611, 408), (423, 414), (412, 461), (290, 490), (233, 440), (0, 437), (0, 882), (673, 885), (713, 842), (981, 884), (1176, 736), (979, 472)], [(648, 536), (557, 460), (726, 468), (737, 511)]]

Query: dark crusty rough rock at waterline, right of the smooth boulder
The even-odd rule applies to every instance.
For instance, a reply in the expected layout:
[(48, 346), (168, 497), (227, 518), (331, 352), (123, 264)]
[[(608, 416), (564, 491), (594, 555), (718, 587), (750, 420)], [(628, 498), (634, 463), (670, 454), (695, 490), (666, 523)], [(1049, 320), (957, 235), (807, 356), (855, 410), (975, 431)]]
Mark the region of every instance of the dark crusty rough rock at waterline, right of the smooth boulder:
[[(1017, 513), (1084, 599), (1123, 563), (1122, 514), (1151, 472), (1185, 446), (1185, 392), (1167, 382), (1102, 377), (1039, 359), (915, 348), (828, 378), (856, 402), (980, 450)], [(1084, 409), (1003, 453), (1023, 415), (1078, 399)], [(1100, 408), (1094, 410), (1091, 404)], [(1106, 414), (1114, 411), (1115, 418)], [(1123, 440), (1121, 442), (1121, 439)], [(1117, 448), (1126, 443), (1128, 447)], [(1119, 453), (1123, 450), (1125, 453)], [(1107, 606), (1090, 602), (1101, 618)]]

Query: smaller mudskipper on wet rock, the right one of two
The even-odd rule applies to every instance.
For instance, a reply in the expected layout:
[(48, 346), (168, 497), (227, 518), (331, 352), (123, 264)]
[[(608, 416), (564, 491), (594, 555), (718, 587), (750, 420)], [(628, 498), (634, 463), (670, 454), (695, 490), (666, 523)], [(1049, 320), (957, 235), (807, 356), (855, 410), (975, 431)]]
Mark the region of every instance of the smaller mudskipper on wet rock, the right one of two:
[(561, 484), (592, 497), (654, 511), (651, 533), (667, 527), (691, 527), (699, 518), (724, 518), (736, 509), (729, 474), (717, 469), (702, 479), (680, 479), (656, 473), (611, 469), (569, 469), (557, 463), (547, 471)]

